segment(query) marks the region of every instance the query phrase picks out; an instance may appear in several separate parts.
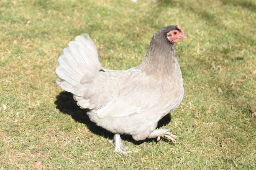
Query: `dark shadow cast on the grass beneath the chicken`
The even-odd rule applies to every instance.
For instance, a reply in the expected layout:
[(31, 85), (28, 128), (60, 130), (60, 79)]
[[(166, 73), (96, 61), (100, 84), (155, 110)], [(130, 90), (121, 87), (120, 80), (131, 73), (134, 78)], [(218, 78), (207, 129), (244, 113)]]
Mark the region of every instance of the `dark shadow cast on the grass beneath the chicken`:
[[(97, 126), (95, 122), (92, 122), (86, 112), (89, 109), (81, 109), (77, 102), (73, 99), (73, 94), (70, 92), (60, 92), (59, 95), (56, 96), (56, 101), (54, 102), (56, 108), (59, 109), (60, 112), (70, 115), (75, 122), (83, 123), (87, 125), (87, 128), (97, 135), (101, 135), (104, 138), (113, 139), (114, 134), (100, 126)], [(164, 116), (159, 122), (157, 128), (167, 125), (171, 121), (170, 114)], [(141, 141), (133, 140), (131, 135), (121, 135), (123, 140), (127, 140), (133, 144), (140, 145), (144, 142), (151, 142), (156, 139), (146, 139)]]

